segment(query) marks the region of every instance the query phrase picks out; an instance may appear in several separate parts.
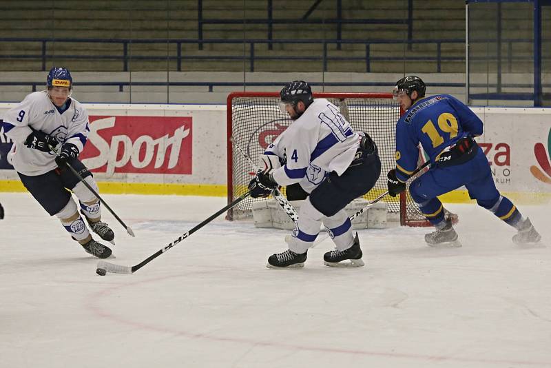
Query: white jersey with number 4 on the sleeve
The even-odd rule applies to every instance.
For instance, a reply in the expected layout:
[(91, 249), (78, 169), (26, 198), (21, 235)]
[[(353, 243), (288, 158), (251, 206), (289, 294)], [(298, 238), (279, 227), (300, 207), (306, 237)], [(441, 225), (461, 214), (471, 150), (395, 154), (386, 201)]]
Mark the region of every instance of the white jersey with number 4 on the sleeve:
[(275, 154), (286, 162), (272, 172), (279, 185), (300, 183), (311, 192), (327, 173), (342, 175), (359, 145), (360, 135), (339, 109), (326, 99), (315, 99), (264, 154)]

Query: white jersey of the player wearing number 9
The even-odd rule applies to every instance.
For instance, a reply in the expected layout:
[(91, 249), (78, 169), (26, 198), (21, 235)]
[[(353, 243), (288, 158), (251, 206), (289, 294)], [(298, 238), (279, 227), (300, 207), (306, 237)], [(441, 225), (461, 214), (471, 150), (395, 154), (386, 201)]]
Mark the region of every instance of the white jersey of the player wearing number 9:
[[(69, 103), (67, 101), (67, 103)], [(36, 176), (57, 167), (55, 154), (29, 148), (23, 143), (33, 130), (55, 136), (60, 143), (73, 143), (82, 152), (90, 132), (88, 113), (79, 101), (70, 98), (70, 106), (59, 113), (48, 91), (28, 94), (3, 116), (3, 128), (14, 144), (8, 161), (17, 172)], [(61, 147), (58, 146), (57, 149)]]

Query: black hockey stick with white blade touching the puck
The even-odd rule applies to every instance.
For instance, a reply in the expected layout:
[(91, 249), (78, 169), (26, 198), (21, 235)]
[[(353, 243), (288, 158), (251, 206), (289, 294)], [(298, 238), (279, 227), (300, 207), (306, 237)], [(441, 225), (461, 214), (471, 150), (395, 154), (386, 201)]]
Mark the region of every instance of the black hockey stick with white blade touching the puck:
[(171, 247), (174, 247), (176, 244), (183, 241), (185, 238), (187, 238), (188, 236), (190, 236), (191, 234), (196, 232), (198, 229), (200, 229), (201, 227), (207, 225), (207, 223), (210, 223), (215, 218), (220, 216), (220, 214), (222, 214), (223, 212), (226, 212), (228, 209), (230, 209), (234, 205), (240, 203), (240, 201), (247, 198), (249, 195), (250, 195), (250, 192), (247, 192), (247, 193), (243, 194), (242, 196), (237, 198), (235, 201), (229, 203), (229, 205), (227, 205), (224, 208), (218, 210), (216, 212), (216, 214), (213, 214), (212, 216), (207, 218), (205, 221), (202, 221), (202, 223), (200, 223), (199, 225), (196, 225), (196, 227), (189, 230), (188, 232), (185, 232), (184, 234), (179, 236), (175, 241), (173, 241), (172, 243), (170, 243), (169, 245), (167, 245), (163, 249), (159, 249), (157, 252), (155, 252), (151, 256), (145, 258), (145, 260), (141, 261), (137, 265), (132, 266), (132, 267), (131, 266), (122, 266), (122, 265), (115, 265), (114, 263), (110, 263), (110, 262), (107, 262), (105, 260), (100, 260), (98, 262), (98, 267), (96, 269), (96, 274), (101, 275), (101, 276), (104, 276), (107, 272), (112, 272), (114, 274), (127, 274), (127, 275), (134, 274), (134, 272), (138, 271), (138, 269), (141, 269), (141, 267), (147, 265), (147, 263), (151, 262), (152, 260), (154, 260), (155, 258), (160, 256), (161, 254), (167, 252), (168, 249), (170, 249)]

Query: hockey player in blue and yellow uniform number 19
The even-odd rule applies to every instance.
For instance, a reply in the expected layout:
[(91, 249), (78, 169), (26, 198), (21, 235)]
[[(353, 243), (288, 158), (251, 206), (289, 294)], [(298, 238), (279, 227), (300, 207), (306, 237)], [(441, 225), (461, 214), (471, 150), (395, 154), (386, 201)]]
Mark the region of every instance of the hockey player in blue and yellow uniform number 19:
[(389, 194), (396, 196), (406, 190), (406, 180), (417, 167), (417, 146), (421, 143), (432, 165), (410, 184), (409, 190), (421, 212), (436, 227), (435, 232), (425, 236), (428, 245), (461, 246), (437, 196), (463, 185), (478, 205), (517, 229), (514, 243), (537, 243), (541, 237), (530, 219), (495, 187), (486, 155), (474, 139), (483, 132), (482, 121), (455, 97), (425, 97), (425, 90), (418, 76), (406, 76), (396, 83), (394, 95), (405, 113), (396, 124), (396, 168), (387, 175)]

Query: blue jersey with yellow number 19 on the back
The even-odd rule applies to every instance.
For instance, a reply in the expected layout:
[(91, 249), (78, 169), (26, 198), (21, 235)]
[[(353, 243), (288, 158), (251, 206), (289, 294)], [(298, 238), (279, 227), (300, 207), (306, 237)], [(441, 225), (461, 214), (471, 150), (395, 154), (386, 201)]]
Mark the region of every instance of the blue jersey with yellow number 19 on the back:
[(449, 94), (413, 104), (396, 124), (396, 176), (406, 181), (417, 168), (421, 143), (430, 161), (464, 136), (482, 134), (482, 121), (467, 105)]

